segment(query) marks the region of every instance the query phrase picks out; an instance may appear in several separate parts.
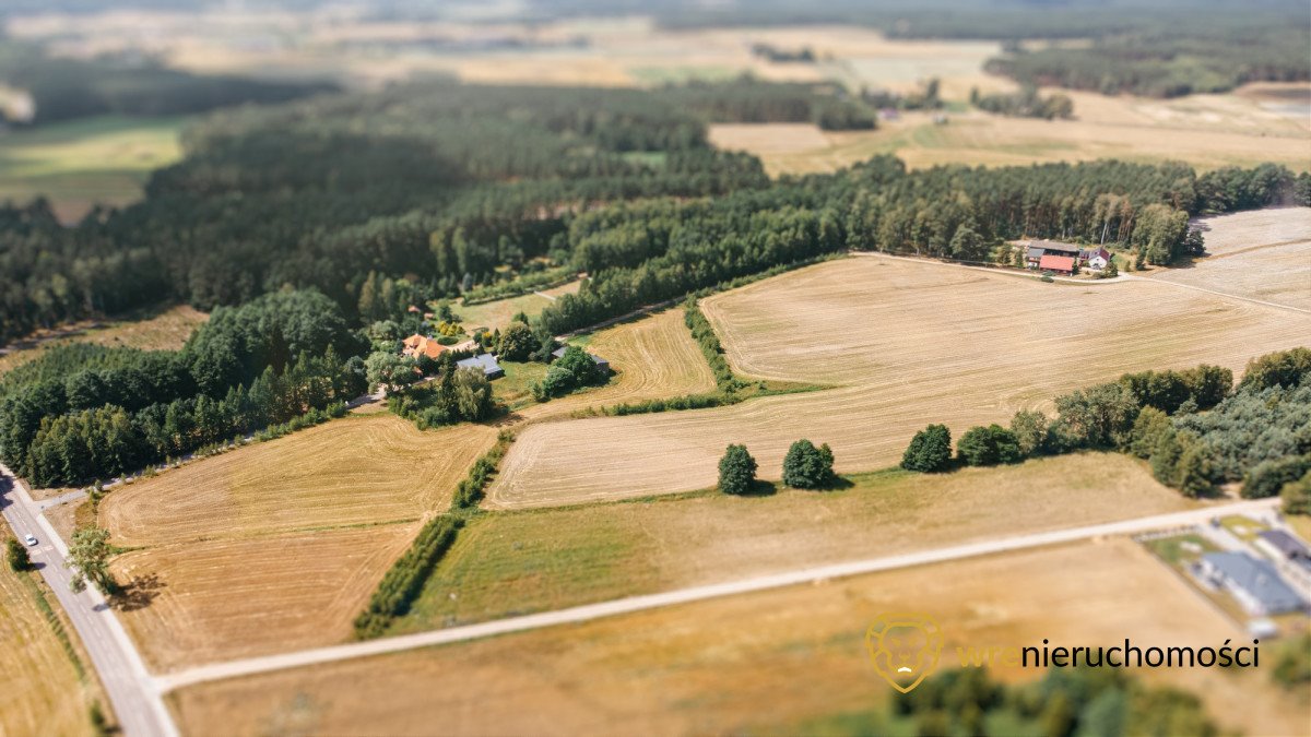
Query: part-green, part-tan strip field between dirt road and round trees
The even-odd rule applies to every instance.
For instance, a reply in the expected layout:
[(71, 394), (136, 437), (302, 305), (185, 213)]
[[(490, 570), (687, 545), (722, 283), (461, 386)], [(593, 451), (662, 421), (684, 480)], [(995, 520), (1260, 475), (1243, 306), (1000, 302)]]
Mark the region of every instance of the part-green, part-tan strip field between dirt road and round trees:
[(460, 534), (396, 632), (1194, 505), (1124, 455), (949, 475), (860, 473), (851, 481), (831, 492), (711, 492), (481, 517)]

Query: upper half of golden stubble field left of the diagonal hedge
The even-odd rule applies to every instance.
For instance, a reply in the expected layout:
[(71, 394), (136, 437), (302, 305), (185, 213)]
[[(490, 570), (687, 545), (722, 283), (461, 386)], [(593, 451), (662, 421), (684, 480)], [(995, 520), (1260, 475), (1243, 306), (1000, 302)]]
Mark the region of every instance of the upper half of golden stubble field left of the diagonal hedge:
[(100, 523), (135, 547), (417, 519), (446, 508), (494, 441), (482, 425), (345, 417), (114, 489)]

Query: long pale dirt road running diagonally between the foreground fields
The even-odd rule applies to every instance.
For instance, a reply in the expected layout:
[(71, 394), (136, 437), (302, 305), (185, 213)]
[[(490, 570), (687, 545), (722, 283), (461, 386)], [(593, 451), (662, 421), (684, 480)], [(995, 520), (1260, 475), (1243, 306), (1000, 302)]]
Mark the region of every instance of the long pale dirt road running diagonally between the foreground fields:
[(629, 597), (624, 599), (615, 599), (610, 602), (600, 602), (600, 603), (578, 606), (557, 611), (545, 611), (526, 616), (498, 619), (494, 622), (485, 622), (481, 624), (469, 624), (464, 627), (451, 627), (448, 629), (420, 632), (416, 635), (402, 635), (399, 637), (384, 637), (380, 640), (370, 640), (366, 643), (350, 643), (346, 645), (333, 645), (328, 648), (316, 648), (295, 653), (283, 653), (275, 656), (219, 662), (214, 665), (206, 665), (190, 670), (156, 677), (156, 686), (159, 691), (166, 692), (173, 688), (181, 688), (184, 686), (191, 686), (207, 681), (236, 678), (241, 675), (253, 675), (257, 673), (269, 673), (288, 667), (304, 667), (323, 662), (333, 662), (357, 657), (395, 653), (413, 648), (426, 648), (431, 645), (460, 643), (464, 640), (476, 640), (480, 637), (490, 637), (494, 635), (522, 632), (526, 629), (538, 629), (541, 627), (553, 627), (558, 624), (576, 624), (579, 622), (600, 619), (603, 616), (615, 616), (620, 614), (629, 614), (635, 611), (650, 610), (665, 606), (683, 605), (704, 599), (713, 599), (718, 597), (749, 594), (753, 591), (763, 591), (768, 589), (777, 589), (781, 586), (794, 586), (797, 584), (810, 584), (814, 581), (825, 581), (829, 578), (859, 576), (880, 570), (909, 568), (912, 565), (945, 563), (950, 560), (960, 560), (981, 555), (994, 555), (994, 553), (1011, 552), (1025, 548), (1053, 546), (1058, 543), (1087, 540), (1106, 535), (1134, 535), (1139, 532), (1147, 532), (1151, 530), (1188, 527), (1198, 523), (1205, 523), (1213, 517), (1227, 517), (1230, 514), (1243, 514), (1243, 513), (1247, 514), (1265, 513), (1273, 509), (1278, 504), (1278, 501), (1280, 501), (1278, 498), (1273, 498), (1273, 500), (1257, 500), (1257, 501), (1214, 505), (1188, 511), (1156, 514), (1151, 517), (1141, 517), (1138, 519), (1124, 519), (1120, 522), (1108, 522), (1104, 525), (1091, 525), (1087, 527), (1071, 527), (1066, 530), (1034, 532), (1029, 535), (1017, 535), (1012, 538), (983, 540), (979, 543), (966, 543), (961, 546), (950, 546), (945, 548), (935, 548), (928, 551), (916, 551), (910, 553), (884, 556), (868, 560), (856, 560), (832, 565), (804, 568), (800, 570), (775, 573), (770, 576), (760, 576), (756, 578), (746, 578), (742, 581), (728, 581), (724, 584), (694, 586), (690, 589), (679, 589), (675, 591), (665, 591), (659, 594)]

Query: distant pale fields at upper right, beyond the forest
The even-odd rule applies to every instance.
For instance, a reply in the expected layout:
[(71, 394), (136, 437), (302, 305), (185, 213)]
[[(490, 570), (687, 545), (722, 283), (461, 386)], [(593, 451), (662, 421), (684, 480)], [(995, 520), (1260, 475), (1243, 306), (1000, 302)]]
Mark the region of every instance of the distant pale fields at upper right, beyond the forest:
[(876, 131), (821, 131), (791, 123), (716, 125), (711, 142), (759, 156), (771, 174), (830, 172), (878, 153), (911, 168), (939, 164), (1024, 165), (1124, 159), (1183, 160), (1200, 169), (1260, 161), (1311, 169), (1311, 123), (1261, 108), (1242, 93), (1180, 100), (1104, 97), (1066, 92), (1072, 121), (905, 113)]

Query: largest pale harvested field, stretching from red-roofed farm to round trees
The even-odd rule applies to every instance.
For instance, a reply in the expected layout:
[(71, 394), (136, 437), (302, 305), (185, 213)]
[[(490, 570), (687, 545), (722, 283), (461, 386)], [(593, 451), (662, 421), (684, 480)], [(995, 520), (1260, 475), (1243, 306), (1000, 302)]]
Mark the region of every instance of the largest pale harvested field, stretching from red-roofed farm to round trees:
[(738, 372), (839, 387), (531, 426), (502, 463), (489, 504), (708, 488), (729, 443), (746, 443), (766, 479), (779, 477), (797, 438), (830, 443), (839, 472), (882, 468), (929, 422), (958, 435), (1126, 371), (1203, 362), (1240, 371), (1311, 334), (1311, 315), (1146, 279), (1042, 283), (881, 256), (783, 274), (703, 308)]

